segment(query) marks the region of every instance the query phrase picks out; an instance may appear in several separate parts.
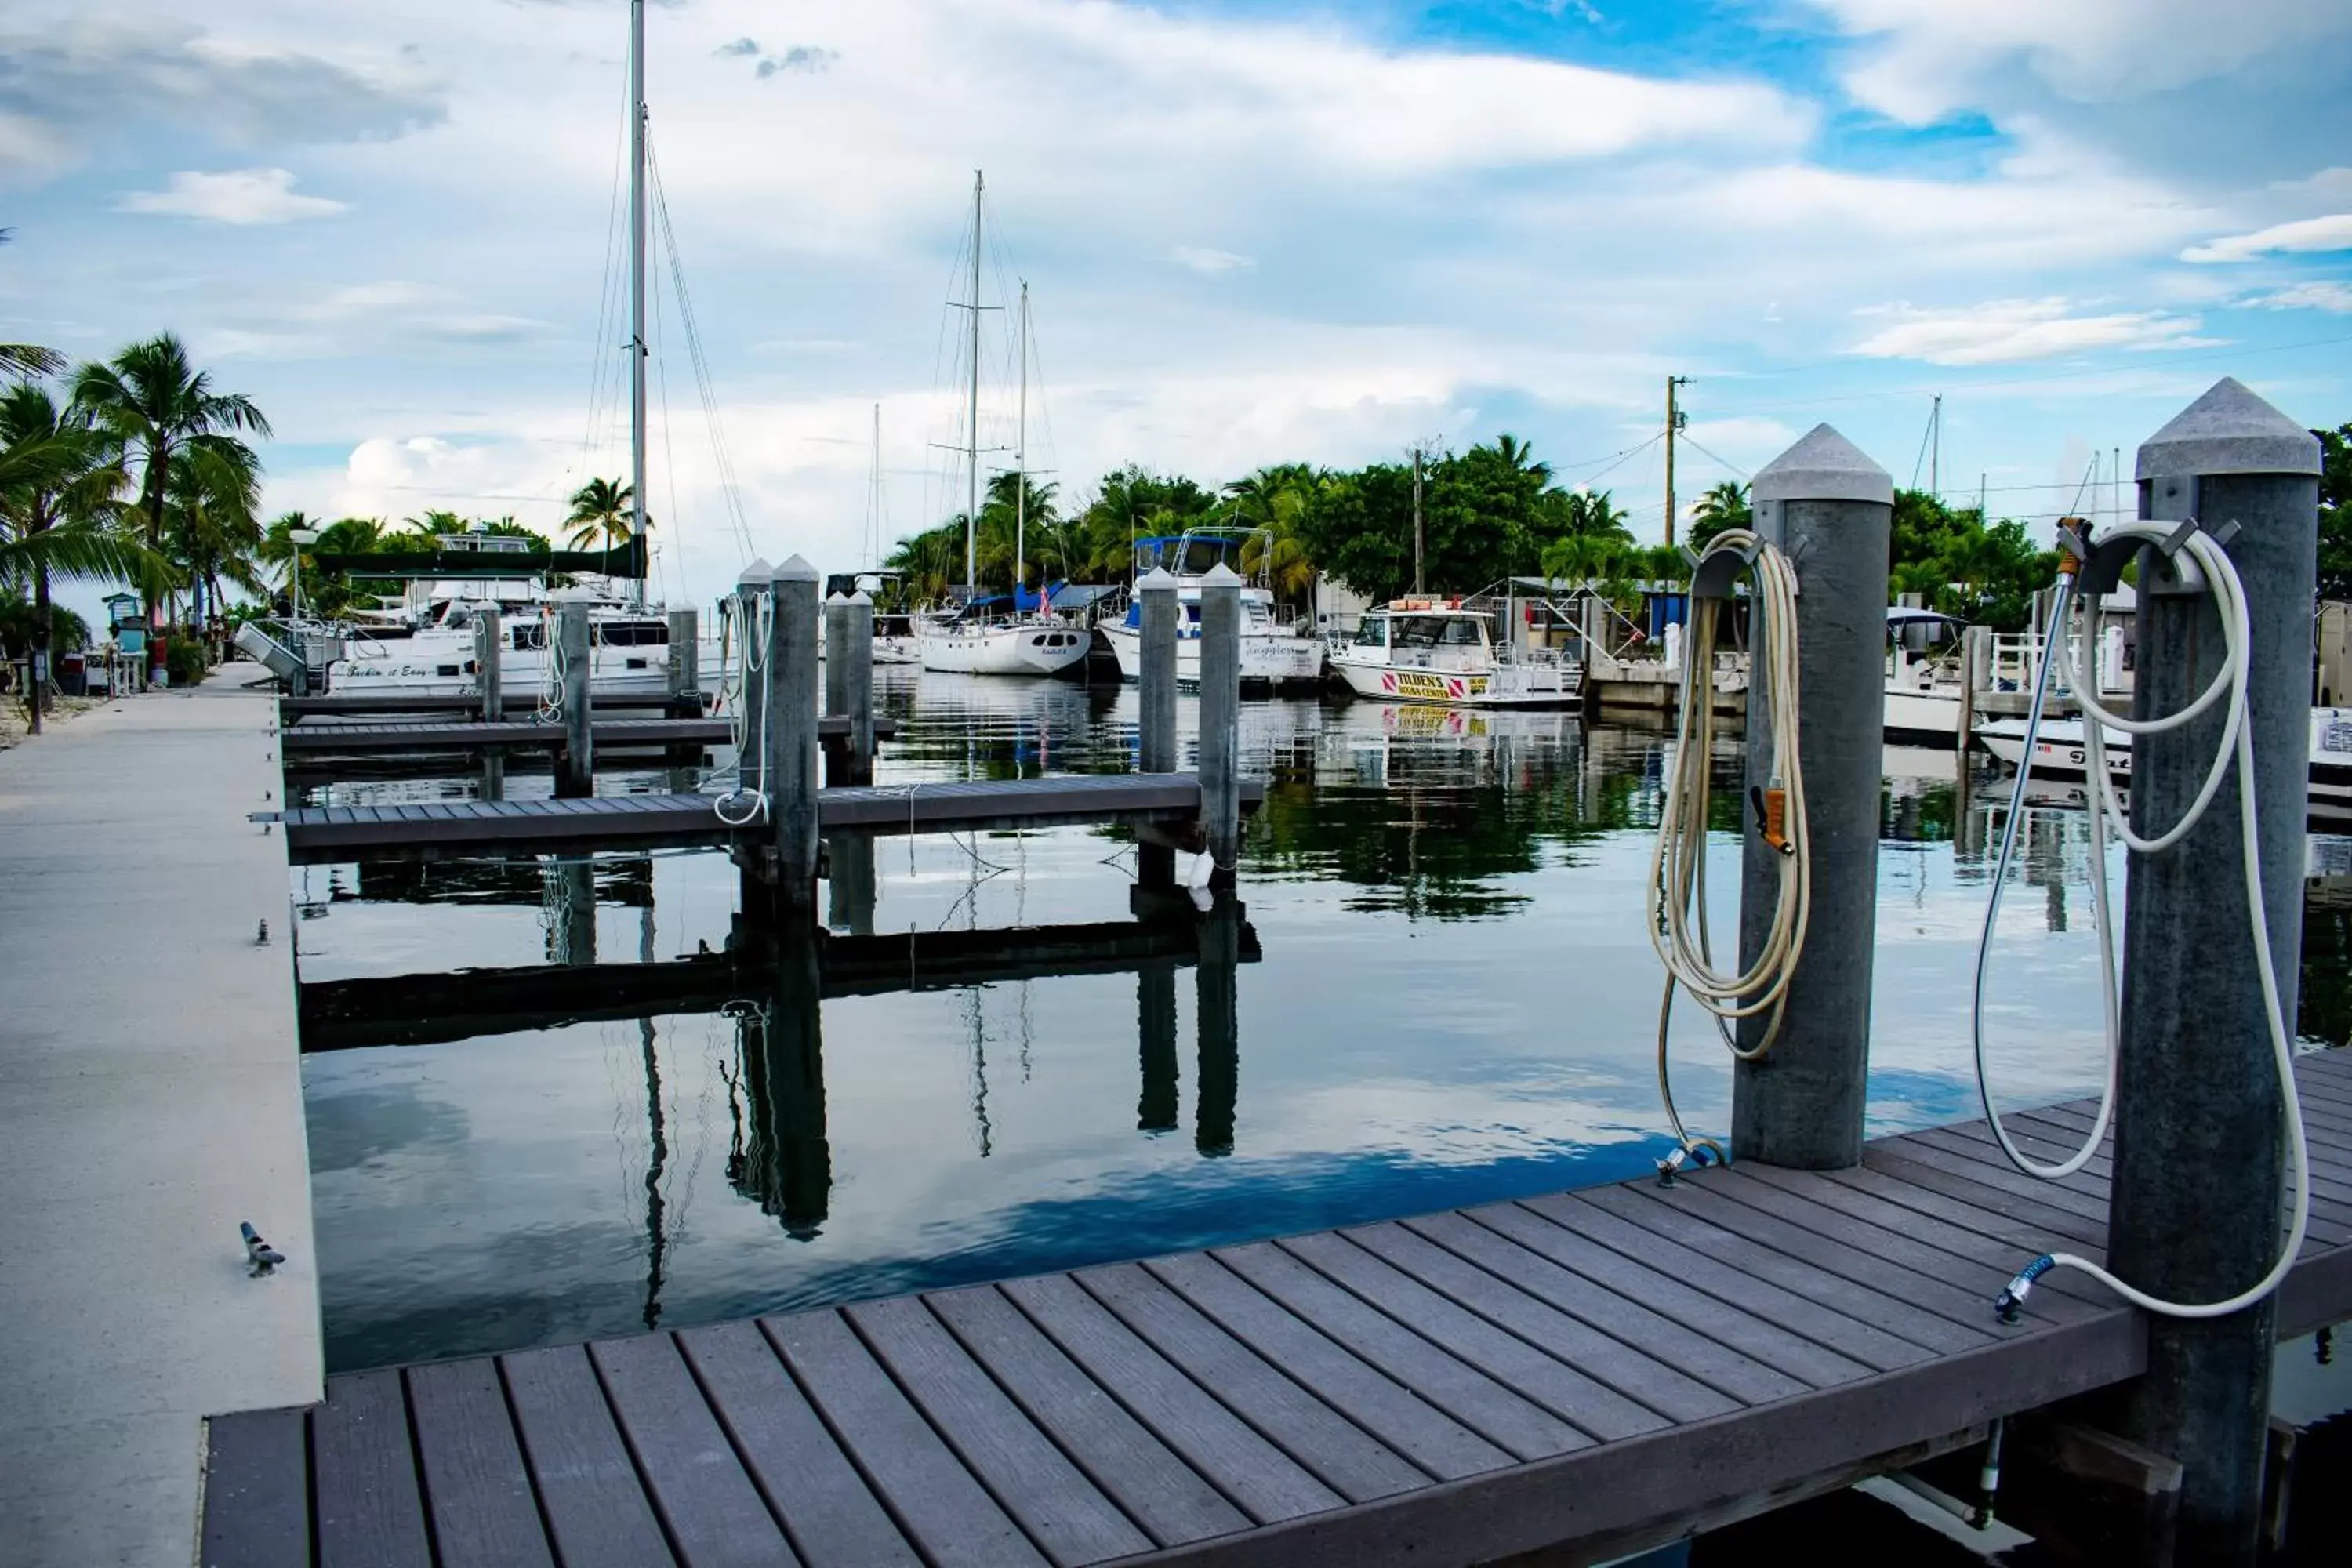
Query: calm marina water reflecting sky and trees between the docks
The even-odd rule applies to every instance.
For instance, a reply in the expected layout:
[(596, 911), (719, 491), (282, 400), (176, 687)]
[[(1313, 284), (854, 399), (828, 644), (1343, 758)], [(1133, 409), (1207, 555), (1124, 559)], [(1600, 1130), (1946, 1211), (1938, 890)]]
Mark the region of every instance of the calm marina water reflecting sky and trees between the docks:
[[(882, 675), (898, 677), (882, 698), (903, 731), (880, 783), (1131, 766), (1129, 691)], [(837, 997), (816, 1041), (788, 997), (748, 994), (306, 1056), (329, 1366), (682, 1326), (1646, 1171), (1668, 1147), (1658, 964), (1642, 929), (1665, 745), (1573, 715), (1251, 703), (1244, 769), (1270, 788), (1240, 898), (1263, 957), (1240, 969)], [(1736, 757), (1722, 764), (1729, 788)], [(508, 795), (546, 788), (508, 780)], [(343, 802), (466, 792), (461, 778), (332, 785)], [(1875, 1133), (1973, 1114), (1969, 973), (2004, 804), (1990, 776), (1962, 788), (1947, 755), (1889, 752)], [(2030, 816), (1994, 1025), (2020, 1103), (2098, 1079), (2086, 853), (2063, 799)], [(2352, 842), (2312, 853), (2314, 870), (2352, 875)], [(1736, 889), (1736, 846), (1717, 856), (1717, 886)], [(720, 950), (736, 903), (715, 851), (296, 867), (294, 882), (306, 983), (675, 959)], [(884, 839), (870, 929), (1120, 922), (1131, 882), (1134, 849), (1110, 832)], [(1733, 912), (1726, 898), (1726, 936)], [(2336, 1041), (2352, 1013), (2347, 919), (2314, 896), (2305, 1032)], [(1679, 1018), (1675, 1060), (1693, 1131), (1719, 1133), (1731, 1074), (1712, 1030)]]

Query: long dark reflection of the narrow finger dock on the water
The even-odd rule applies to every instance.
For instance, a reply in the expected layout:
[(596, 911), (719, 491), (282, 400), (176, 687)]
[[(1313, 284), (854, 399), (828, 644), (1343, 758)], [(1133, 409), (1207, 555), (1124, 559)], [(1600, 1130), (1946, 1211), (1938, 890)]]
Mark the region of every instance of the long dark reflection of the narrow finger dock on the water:
[[(1261, 957), (1240, 926), (1242, 964)], [(1112, 919), (1004, 931), (814, 933), (821, 997), (1000, 985), (1200, 961), (1195, 922)], [(303, 983), (301, 1048), (353, 1051), (423, 1046), (480, 1034), (553, 1030), (572, 1023), (715, 1013), (746, 994), (774, 990), (771, 966), (713, 952), (666, 964), (532, 964), (454, 973), (369, 976)]]

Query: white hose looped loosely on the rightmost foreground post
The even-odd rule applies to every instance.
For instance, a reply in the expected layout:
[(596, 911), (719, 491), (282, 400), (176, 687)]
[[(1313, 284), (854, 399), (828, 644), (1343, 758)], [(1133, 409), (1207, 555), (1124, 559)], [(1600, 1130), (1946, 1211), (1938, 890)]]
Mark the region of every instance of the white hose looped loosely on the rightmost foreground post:
[[(2034, 672), (2034, 696), (2025, 715), (2025, 750), (2018, 757), (2018, 778), (2009, 797), (2009, 823), (2002, 830), (2002, 853), (1992, 875), (1992, 896), (1985, 905), (1985, 929), (1976, 945), (1976, 1004), (1971, 1009), (1969, 1027), (1976, 1046), (1976, 1091), (1985, 1105), (1985, 1121), (1992, 1124), (1992, 1135), (1999, 1140), (2002, 1152), (2025, 1175), (2037, 1175), (2042, 1180), (2060, 1180), (2082, 1171), (2100, 1143), (2107, 1138), (2107, 1126), (2114, 1114), (2114, 1079), (2117, 1079), (2117, 1056), (2122, 1051), (2122, 1004), (2114, 976), (2114, 922), (2107, 907), (2107, 818), (2114, 818), (2114, 837), (2124, 842), (2126, 849), (2140, 856), (2157, 856), (2178, 844), (2190, 835), (2192, 827), (2204, 818), (2206, 809), (2220, 795), (2223, 778), (2230, 771), (2230, 762), (2237, 762), (2237, 813), (2239, 813), (2239, 842), (2246, 870), (2246, 926), (2253, 936), (2256, 969), (2263, 980), (2263, 1023), (2270, 1025), (2270, 1051), (2274, 1067), (2279, 1072), (2279, 1105), (2286, 1114), (2286, 1145), (2288, 1145), (2288, 1182), (2291, 1182), (2291, 1206), (2293, 1218), (2286, 1227), (2286, 1241), (2279, 1248), (2277, 1262), (2260, 1281), (2239, 1291), (2237, 1295), (2218, 1302), (2171, 1302), (2131, 1284), (2124, 1284), (2105, 1267), (2091, 1262), (2089, 1258), (2077, 1258), (2074, 1253), (2044, 1253), (2034, 1258), (1994, 1300), (1994, 1312), (2004, 1324), (2018, 1321), (2018, 1307), (2025, 1305), (2027, 1291), (2034, 1281), (2053, 1269), (2079, 1269), (2091, 1279), (2100, 1281), (2131, 1305), (2154, 1312), (2161, 1316), (2180, 1319), (2209, 1319), (2227, 1316), (2241, 1312), (2253, 1302), (2263, 1300), (2279, 1288), (2286, 1279), (2286, 1269), (2293, 1267), (2296, 1255), (2303, 1251), (2303, 1237), (2310, 1227), (2310, 1150), (2303, 1138), (2303, 1103), (2296, 1095), (2296, 1063), (2293, 1063), (2293, 1037), (2286, 1030), (2286, 1009), (2279, 999), (2279, 973), (2270, 950), (2270, 912), (2263, 903), (2263, 858), (2260, 858), (2260, 832), (2253, 811), (2253, 726), (2246, 719), (2246, 689), (2253, 675), (2253, 646), (2249, 635), (2249, 607), (2246, 585), (2237, 576), (2237, 564), (2218, 538), (2204, 529), (2190, 531), (2185, 538), (2178, 534), (2178, 524), (2166, 522), (2119, 522), (2110, 527), (2098, 543), (2107, 541), (2143, 541), (2150, 545), (2161, 545), (2176, 550), (2176, 559), (2185, 555), (2194, 562), (2197, 571), (2204, 576), (2206, 592), (2213, 595), (2213, 604), (2220, 611), (2223, 632), (2223, 665), (2216, 670), (2213, 679), (2206, 684), (2194, 701), (2190, 701), (2178, 712), (2157, 719), (2131, 719), (2126, 715), (2112, 712), (2098, 701), (2098, 682), (2086, 679), (2082, 668), (2082, 656), (2077, 651), (2074, 623), (2067, 621), (2070, 602), (2079, 607), (2079, 625), (2084, 642), (2098, 635), (2100, 595), (2084, 592), (2074, 595), (2074, 574), (2082, 569), (2082, 559), (2072, 552), (2060, 555), (2060, 581), (2056, 604), (2051, 609), (2049, 635), (2042, 642), (2042, 661)], [(2145, 592), (2145, 588), (2143, 588)], [(2082, 705), (2082, 729), (2084, 729), (2084, 771), (2089, 773), (2089, 813), (2091, 813), (2091, 912), (2098, 929), (2098, 964), (2100, 964), (2100, 1009), (2105, 1013), (2105, 1044), (2107, 1044), (2107, 1084), (2098, 1095), (2098, 1119), (2091, 1124), (2091, 1133), (2084, 1145), (2056, 1166), (2044, 1166), (2027, 1159), (2023, 1150), (2011, 1140), (2009, 1128), (2002, 1126), (2002, 1114), (1992, 1105), (1992, 1079), (1985, 1070), (1985, 969), (1992, 952), (1992, 926), (2002, 912), (2002, 886), (2009, 877), (2009, 860), (2018, 842), (2018, 823), (2025, 816), (2025, 780), (2032, 773), (2034, 762), (2034, 738), (2042, 729), (2042, 705), (2049, 689), (2051, 665), (2065, 661), (2065, 679), (2074, 691), (2074, 701)], [(2197, 790), (2197, 799), (2190, 802), (2180, 820), (2154, 837), (2140, 837), (2131, 830), (2122, 802), (2114, 795), (2114, 776), (2107, 771), (2107, 743), (2105, 731), (2114, 729), (2126, 736), (2159, 736), (2169, 729), (2180, 729), (2197, 715), (2213, 708), (2213, 703), (2227, 701), (2223, 717), (2220, 743), (2213, 750), (2213, 766), (2206, 771), (2204, 785)]]

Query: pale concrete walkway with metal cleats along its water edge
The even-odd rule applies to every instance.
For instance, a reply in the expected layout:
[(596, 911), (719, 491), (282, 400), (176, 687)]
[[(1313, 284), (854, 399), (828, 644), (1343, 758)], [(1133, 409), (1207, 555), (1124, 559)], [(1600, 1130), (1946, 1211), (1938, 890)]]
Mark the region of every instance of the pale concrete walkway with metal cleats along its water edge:
[(0, 752), (0, 1563), (186, 1568), (200, 1418), (320, 1396), (287, 863), (245, 820), (280, 804), (256, 675)]

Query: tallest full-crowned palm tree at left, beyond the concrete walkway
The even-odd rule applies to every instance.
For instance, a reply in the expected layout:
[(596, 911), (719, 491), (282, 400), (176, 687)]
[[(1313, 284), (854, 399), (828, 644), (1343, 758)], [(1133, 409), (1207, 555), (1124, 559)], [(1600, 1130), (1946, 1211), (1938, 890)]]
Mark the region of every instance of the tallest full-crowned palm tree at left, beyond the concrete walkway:
[[(125, 458), (139, 461), (139, 510), (146, 545), (155, 552), (165, 545), (172, 465), (207, 451), (230, 465), (259, 468), (252, 447), (233, 433), (270, 433), (254, 400), (214, 393), (212, 371), (195, 369), (188, 348), (169, 331), (73, 371), (73, 404), (120, 444)], [(146, 597), (153, 614), (153, 590)]]

